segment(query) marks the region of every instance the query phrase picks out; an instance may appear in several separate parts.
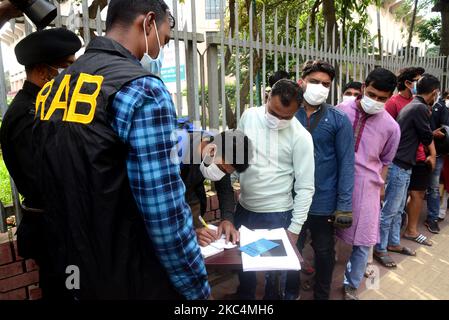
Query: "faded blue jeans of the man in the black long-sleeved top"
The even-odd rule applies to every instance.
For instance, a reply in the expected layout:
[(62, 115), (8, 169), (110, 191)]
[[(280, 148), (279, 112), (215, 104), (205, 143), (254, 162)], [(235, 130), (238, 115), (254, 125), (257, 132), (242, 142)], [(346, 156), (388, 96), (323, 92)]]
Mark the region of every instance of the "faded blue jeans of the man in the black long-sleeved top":
[(385, 202), (380, 215), (380, 243), (377, 252), (387, 252), (387, 246), (401, 243), (401, 220), (412, 170), (405, 170), (394, 163), (388, 171), (388, 184), (385, 188)]

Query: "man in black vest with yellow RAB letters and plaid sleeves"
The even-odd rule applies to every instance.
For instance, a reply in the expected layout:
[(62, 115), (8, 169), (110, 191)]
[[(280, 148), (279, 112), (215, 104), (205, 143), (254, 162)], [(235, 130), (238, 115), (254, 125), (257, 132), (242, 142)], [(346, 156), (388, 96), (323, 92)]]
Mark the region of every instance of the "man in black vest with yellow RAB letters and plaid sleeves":
[(67, 288), (76, 299), (210, 295), (171, 159), (175, 108), (156, 76), (173, 27), (163, 1), (110, 1), (106, 37), (36, 100), (34, 158), (52, 265), (61, 281), (73, 272)]

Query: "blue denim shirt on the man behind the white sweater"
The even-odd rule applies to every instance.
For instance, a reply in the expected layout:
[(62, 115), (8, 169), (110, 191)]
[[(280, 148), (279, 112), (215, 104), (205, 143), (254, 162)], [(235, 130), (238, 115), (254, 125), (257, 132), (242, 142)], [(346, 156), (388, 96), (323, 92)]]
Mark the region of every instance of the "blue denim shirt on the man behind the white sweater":
[[(304, 107), (296, 118), (309, 129), (320, 108), (307, 118)], [(354, 188), (354, 135), (348, 117), (327, 105), (326, 113), (312, 132), (315, 152), (315, 194), (309, 214), (332, 215), (352, 211)]]

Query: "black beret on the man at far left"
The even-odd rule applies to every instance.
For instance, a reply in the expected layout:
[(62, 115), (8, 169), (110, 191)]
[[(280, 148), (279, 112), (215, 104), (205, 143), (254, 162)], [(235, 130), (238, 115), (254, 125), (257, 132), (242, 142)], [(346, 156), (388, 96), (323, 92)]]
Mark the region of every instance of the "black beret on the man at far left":
[(22, 39), (14, 49), (24, 66), (52, 63), (75, 54), (81, 48), (78, 36), (64, 28), (36, 31)]

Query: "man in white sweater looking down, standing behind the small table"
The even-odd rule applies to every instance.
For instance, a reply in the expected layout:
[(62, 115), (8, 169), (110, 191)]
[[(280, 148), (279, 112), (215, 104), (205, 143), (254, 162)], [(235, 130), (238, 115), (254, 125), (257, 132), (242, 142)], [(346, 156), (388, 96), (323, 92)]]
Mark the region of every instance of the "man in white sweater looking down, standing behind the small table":
[[(279, 80), (266, 106), (246, 110), (238, 126), (251, 139), (256, 152), (251, 166), (240, 175), (236, 227), (287, 228), (292, 245), (296, 245), (307, 219), (315, 190), (312, 137), (294, 117), (302, 101), (302, 90), (296, 82)], [(254, 299), (256, 274), (240, 272), (239, 280), (238, 297)], [(274, 299), (274, 274), (268, 273), (266, 280), (265, 298)]]

